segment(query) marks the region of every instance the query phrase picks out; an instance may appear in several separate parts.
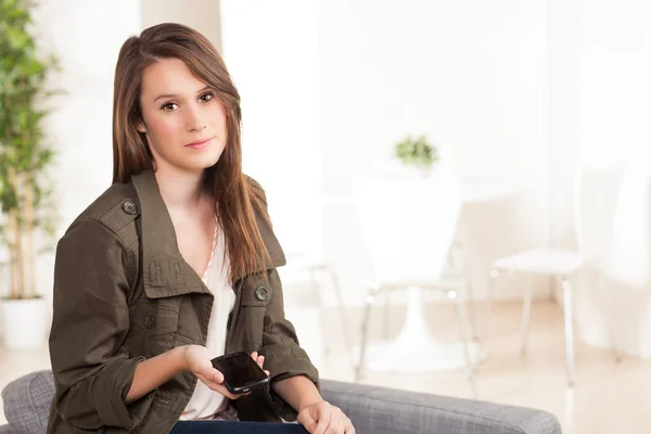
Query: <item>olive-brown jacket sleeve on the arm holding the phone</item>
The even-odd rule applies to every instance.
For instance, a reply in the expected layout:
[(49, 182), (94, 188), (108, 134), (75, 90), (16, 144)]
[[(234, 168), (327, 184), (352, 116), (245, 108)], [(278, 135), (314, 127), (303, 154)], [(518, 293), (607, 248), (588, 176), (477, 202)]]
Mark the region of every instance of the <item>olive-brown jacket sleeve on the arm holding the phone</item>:
[(133, 425), (125, 397), (143, 359), (129, 358), (123, 347), (129, 329), (127, 259), (117, 235), (95, 220), (75, 224), (56, 246), (54, 408), (80, 429)]

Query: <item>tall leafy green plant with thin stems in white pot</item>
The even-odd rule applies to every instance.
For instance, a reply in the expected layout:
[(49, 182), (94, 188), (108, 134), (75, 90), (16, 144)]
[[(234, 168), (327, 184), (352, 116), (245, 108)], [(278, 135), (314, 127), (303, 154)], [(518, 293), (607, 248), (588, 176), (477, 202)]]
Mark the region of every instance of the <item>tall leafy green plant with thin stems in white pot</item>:
[(48, 327), (35, 261), (55, 220), (48, 201), (52, 151), (41, 129), (49, 112), (42, 103), (53, 93), (46, 91), (46, 79), (56, 60), (37, 52), (28, 33), (30, 3), (0, 0), (0, 247), (7, 255), (0, 271), (9, 281), (0, 320), (7, 346), (36, 347), (47, 339)]

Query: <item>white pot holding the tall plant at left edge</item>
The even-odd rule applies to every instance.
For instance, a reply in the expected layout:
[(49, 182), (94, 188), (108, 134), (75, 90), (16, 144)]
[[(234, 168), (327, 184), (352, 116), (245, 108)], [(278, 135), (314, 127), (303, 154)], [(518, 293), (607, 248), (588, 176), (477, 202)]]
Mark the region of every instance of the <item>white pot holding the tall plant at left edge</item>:
[(33, 349), (46, 344), (48, 320), (44, 298), (1, 299), (0, 320), (5, 347)]

